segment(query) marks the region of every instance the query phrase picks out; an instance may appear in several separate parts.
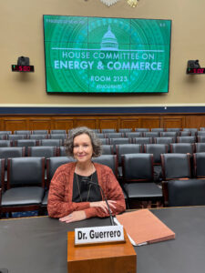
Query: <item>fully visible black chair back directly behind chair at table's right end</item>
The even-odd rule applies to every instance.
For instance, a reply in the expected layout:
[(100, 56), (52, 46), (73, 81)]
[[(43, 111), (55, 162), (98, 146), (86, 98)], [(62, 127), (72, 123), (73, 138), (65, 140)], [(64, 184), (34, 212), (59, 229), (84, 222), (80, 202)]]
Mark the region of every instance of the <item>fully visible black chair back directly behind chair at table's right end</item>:
[(161, 154), (164, 180), (190, 178), (190, 154)]

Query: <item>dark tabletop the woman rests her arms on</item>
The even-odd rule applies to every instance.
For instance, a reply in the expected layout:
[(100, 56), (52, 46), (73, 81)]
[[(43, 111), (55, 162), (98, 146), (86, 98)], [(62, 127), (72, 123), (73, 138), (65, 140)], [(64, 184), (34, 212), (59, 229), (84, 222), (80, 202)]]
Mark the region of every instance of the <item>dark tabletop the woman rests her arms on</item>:
[[(205, 268), (205, 207), (151, 210), (175, 240), (135, 248), (138, 273), (193, 273)], [(0, 220), (0, 268), (9, 273), (67, 273), (67, 231), (109, 225), (108, 218), (65, 224), (49, 217)], [(119, 272), (121, 273), (121, 272)]]

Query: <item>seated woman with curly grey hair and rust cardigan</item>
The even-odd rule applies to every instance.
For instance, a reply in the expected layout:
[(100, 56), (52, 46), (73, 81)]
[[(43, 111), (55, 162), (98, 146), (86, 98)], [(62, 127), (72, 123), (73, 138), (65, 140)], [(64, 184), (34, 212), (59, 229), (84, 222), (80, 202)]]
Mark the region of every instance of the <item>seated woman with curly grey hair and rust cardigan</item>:
[[(49, 188), (49, 217), (67, 223), (89, 217), (108, 217), (108, 206), (100, 188), (92, 183), (103, 188), (113, 215), (124, 211), (124, 195), (112, 170), (92, 162), (92, 157), (101, 154), (101, 144), (95, 133), (87, 127), (77, 127), (69, 134), (65, 146), (67, 155), (76, 162), (56, 169)], [(87, 179), (92, 183), (87, 183)]]

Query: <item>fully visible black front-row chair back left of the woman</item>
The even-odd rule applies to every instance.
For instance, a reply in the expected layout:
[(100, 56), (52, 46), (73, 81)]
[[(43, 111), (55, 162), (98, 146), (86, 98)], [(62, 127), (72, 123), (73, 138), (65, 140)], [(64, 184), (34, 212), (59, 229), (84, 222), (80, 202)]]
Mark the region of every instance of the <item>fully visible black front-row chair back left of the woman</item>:
[(7, 188), (45, 186), (44, 157), (8, 158)]

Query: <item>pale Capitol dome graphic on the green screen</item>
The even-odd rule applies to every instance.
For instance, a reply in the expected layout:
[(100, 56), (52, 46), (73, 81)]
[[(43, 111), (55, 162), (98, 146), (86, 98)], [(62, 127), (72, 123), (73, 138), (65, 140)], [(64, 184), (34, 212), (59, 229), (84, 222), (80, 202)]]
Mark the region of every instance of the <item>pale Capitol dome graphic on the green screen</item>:
[(102, 37), (100, 49), (103, 51), (118, 51), (118, 40), (112, 33), (110, 25), (108, 25), (108, 32)]

